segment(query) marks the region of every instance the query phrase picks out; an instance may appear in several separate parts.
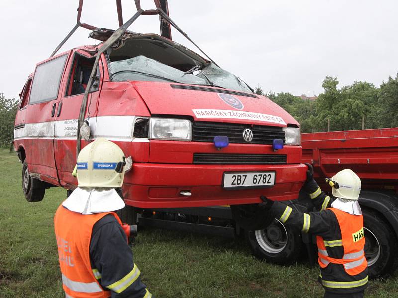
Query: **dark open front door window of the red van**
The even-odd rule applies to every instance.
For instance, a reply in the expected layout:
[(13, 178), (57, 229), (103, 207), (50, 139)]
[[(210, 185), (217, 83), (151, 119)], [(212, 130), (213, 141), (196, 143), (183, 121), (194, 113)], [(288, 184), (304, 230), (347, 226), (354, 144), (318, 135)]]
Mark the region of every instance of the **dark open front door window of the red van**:
[[(89, 82), (94, 61), (94, 58), (89, 59), (78, 54), (75, 55), (65, 96), (84, 93)], [(99, 76), (99, 72), (97, 72), (97, 75)], [(91, 91), (96, 91), (96, 89), (92, 87)]]

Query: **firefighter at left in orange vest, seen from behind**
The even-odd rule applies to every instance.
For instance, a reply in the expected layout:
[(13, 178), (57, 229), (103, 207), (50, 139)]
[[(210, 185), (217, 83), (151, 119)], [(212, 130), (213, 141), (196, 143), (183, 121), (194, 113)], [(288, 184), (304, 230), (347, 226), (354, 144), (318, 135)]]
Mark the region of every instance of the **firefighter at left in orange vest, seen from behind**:
[(66, 297), (152, 297), (114, 212), (125, 206), (115, 189), (128, 169), (123, 151), (97, 139), (81, 150), (75, 169), (78, 188), (54, 217)]

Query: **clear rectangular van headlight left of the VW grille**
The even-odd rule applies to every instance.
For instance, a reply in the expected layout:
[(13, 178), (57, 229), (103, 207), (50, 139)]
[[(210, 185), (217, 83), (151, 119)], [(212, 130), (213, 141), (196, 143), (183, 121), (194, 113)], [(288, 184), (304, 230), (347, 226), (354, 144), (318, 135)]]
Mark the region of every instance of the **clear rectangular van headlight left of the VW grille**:
[(184, 119), (149, 118), (149, 139), (191, 141), (191, 121)]

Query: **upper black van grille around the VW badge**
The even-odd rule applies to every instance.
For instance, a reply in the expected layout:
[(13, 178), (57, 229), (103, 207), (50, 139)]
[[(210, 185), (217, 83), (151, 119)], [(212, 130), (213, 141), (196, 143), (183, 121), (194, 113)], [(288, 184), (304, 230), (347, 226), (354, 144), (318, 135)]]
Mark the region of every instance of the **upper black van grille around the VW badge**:
[[(253, 140), (249, 143), (243, 139), (243, 130), (246, 128), (253, 132)], [(192, 126), (193, 141), (213, 142), (215, 136), (227, 136), (229, 143), (272, 144), (274, 139), (285, 142), (282, 127), (216, 122), (195, 122)]]

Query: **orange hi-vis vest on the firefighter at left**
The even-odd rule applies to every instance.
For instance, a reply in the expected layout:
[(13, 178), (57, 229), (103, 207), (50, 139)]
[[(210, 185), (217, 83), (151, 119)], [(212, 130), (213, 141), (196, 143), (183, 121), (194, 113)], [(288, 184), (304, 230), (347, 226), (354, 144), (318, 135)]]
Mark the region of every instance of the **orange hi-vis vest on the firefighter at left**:
[(82, 215), (60, 205), (54, 216), (62, 286), (67, 298), (106, 298), (105, 291), (94, 276), (90, 263), (90, 240), (93, 226), (107, 214), (114, 212)]

